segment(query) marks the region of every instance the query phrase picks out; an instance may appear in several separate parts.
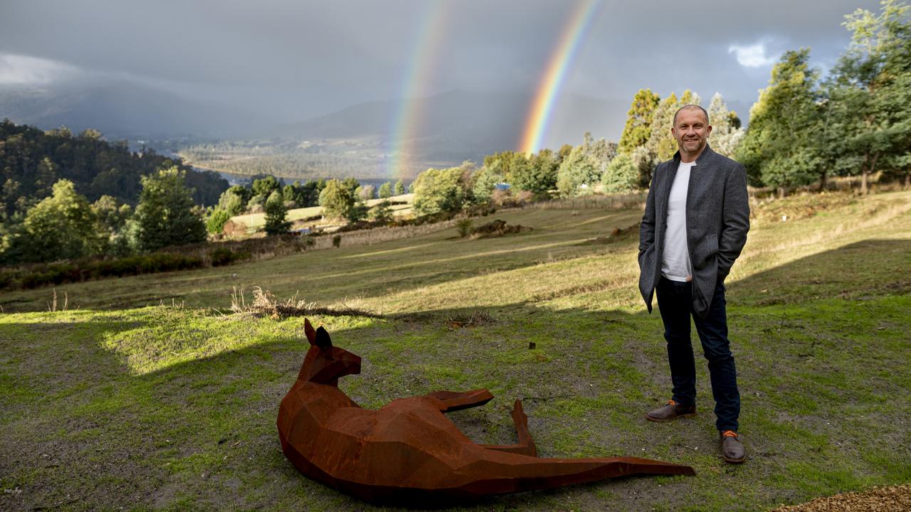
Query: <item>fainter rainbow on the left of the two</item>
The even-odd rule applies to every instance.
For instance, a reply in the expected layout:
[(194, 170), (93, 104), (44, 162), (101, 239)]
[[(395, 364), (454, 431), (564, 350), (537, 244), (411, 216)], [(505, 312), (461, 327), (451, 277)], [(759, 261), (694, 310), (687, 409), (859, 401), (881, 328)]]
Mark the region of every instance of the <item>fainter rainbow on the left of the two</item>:
[(408, 67), (399, 95), (390, 133), (389, 159), (386, 174), (393, 179), (409, 178), (410, 160), (415, 155), (414, 141), (419, 134), (426, 101), (418, 99), (429, 81), (434, 57), (445, 35), (445, 4), (441, 0), (425, 2), (425, 12), (420, 29), (415, 36), (414, 48), (408, 58)]

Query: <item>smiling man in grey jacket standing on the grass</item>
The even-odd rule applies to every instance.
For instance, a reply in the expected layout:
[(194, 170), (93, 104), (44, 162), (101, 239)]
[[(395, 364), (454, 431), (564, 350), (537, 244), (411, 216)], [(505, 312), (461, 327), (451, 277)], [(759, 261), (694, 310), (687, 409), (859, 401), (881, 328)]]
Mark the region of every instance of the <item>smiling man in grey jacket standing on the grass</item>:
[(740, 463), (745, 458), (737, 434), (740, 394), (723, 283), (750, 229), (746, 171), (709, 148), (709, 115), (698, 105), (678, 110), (670, 133), (680, 150), (652, 175), (640, 227), (639, 288), (649, 312), (652, 294), (658, 293), (673, 397), (646, 417), (663, 422), (696, 414), (692, 318), (709, 361), (722, 456)]

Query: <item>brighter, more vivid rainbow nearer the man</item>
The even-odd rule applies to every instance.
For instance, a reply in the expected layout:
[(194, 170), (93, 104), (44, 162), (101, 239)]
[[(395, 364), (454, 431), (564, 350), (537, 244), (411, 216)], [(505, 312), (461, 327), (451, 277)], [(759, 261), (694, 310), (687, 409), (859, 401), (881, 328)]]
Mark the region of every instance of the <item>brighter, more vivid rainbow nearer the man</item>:
[(519, 146), (520, 151), (534, 153), (541, 147), (541, 140), (548, 128), (559, 89), (567, 76), (569, 63), (576, 55), (579, 42), (584, 38), (600, 4), (600, 0), (582, 0), (564, 27), (559, 45), (550, 56), (548, 67), (544, 71), (537, 94), (532, 101), (531, 111), (528, 113)]

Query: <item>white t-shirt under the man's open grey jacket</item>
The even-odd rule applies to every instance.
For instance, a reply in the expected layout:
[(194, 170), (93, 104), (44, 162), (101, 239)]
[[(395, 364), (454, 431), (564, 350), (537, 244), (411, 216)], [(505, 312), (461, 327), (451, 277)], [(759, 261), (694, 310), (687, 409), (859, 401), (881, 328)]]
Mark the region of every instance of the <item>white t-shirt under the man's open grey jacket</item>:
[(661, 253), (661, 275), (670, 281), (686, 282), (692, 275), (690, 251), (686, 243), (686, 194), (690, 186), (690, 169), (696, 162), (683, 163), (670, 186), (667, 230), (664, 231), (664, 251)]

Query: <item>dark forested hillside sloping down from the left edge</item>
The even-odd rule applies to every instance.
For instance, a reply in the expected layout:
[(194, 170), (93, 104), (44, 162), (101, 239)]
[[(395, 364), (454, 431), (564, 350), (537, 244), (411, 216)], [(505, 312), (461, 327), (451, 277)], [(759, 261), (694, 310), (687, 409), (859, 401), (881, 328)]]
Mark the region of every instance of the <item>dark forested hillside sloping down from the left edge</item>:
[(72, 181), (89, 201), (108, 195), (135, 205), (142, 189), (139, 177), (174, 165), (187, 171), (197, 204), (217, 204), (228, 189), (228, 181), (216, 172), (195, 172), (182, 160), (153, 151), (131, 152), (126, 141), (108, 142), (97, 130), (74, 135), (67, 128), (44, 131), (8, 119), (0, 122), (0, 197), (6, 215), (25, 212), (49, 196), (58, 179)]

